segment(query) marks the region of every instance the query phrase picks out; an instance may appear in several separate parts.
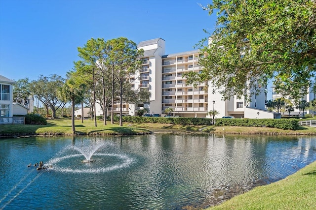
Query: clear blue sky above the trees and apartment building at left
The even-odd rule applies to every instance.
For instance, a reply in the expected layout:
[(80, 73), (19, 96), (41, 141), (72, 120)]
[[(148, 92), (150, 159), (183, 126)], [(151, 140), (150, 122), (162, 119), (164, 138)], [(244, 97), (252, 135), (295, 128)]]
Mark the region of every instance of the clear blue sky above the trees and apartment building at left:
[(0, 0), (0, 74), (66, 76), (90, 38), (166, 41), (166, 54), (193, 50), (215, 26), (207, 0)]

